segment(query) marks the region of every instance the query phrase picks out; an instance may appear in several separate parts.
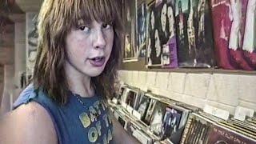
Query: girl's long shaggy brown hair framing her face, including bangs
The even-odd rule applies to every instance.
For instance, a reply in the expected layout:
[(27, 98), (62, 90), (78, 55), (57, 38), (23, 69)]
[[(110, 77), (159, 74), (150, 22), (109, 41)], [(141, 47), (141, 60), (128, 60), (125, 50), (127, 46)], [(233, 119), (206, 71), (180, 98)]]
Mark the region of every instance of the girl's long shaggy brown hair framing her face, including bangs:
[(65, 40), (79, 20), (86, 23), (112, 22), (114, 44), (102, 74), (91, 78), (91, 86), (103, 98), (114, 95), (114, 79), (122, 57), (120, 0), (45, 0), (38, 15), (38, 56), (34, 66), (35, 89), (41, 89), (60, 104), (68, 100), (69, 88), (64, 70)]

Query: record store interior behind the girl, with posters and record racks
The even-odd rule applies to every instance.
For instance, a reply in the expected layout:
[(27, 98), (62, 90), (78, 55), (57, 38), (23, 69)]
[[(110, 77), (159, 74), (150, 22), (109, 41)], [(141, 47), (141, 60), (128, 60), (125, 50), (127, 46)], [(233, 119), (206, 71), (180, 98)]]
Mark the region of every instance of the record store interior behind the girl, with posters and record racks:
[[(42, 0), (6, 2), (0, 119), (33, 77)], [(122, 59), (106, 105), (126, 133), (142, 144), (256, 144), (256, 1), (120, 6)]]

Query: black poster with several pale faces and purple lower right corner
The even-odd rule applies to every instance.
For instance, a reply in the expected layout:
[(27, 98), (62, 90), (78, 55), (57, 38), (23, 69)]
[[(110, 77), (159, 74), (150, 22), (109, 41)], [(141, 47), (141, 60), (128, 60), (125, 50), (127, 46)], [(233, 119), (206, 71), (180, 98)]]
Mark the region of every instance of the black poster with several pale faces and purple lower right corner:
[(174, 0), (151, 2), (147, 23), (146, 65), (177, 67)]

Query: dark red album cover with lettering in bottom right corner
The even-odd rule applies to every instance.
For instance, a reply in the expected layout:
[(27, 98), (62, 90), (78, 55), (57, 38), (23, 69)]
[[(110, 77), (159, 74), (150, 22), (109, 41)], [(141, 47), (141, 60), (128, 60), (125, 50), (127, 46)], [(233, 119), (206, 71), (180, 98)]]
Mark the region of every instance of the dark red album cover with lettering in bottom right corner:
[(209, 144), (215, 143), (255, 143), (255, 140), (246, 138), (240, 134), (235, 134), (230, 130), (221, 128), (220, 126), (213, 126), (213, 129), (210, 131), (208, 142)]

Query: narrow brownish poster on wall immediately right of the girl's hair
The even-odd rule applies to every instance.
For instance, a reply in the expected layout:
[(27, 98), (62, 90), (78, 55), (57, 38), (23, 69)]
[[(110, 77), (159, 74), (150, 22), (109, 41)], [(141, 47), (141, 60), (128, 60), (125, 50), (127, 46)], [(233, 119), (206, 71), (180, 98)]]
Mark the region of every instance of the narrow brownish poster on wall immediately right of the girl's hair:
[(137, 0), (123, 0), (125, 34), (123, 62), (138, 60), (138, 47), (136, 43), (136, 6)]

